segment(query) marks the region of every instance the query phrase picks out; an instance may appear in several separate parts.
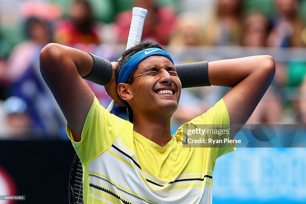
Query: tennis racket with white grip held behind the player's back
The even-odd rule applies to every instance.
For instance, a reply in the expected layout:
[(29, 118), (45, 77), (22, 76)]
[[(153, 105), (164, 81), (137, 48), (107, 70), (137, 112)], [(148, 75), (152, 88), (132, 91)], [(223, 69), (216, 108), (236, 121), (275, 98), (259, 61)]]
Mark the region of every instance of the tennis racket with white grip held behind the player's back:
[[(134, 7), (132, 11), (132, 21), (129, 31), (126, 50), (140, 43), (144, 20), (147, 15), (147, 10), (139, 7)], [(116, 106), (116, 102), (112, 100), (107, 107), (107, 111), (111, 112)], [(69, 177), (69, 203), (84, 204), (83, 201), (83, 168), (80, 158), (76, 154), (73, 158), (73, 163)]]

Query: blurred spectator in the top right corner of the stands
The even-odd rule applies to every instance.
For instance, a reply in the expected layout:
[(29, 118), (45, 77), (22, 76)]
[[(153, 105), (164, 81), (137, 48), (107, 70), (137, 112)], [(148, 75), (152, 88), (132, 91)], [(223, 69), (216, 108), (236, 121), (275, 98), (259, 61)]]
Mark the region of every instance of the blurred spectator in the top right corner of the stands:
[(273, 30), (268, 38), (268, 46), (305, 46), (301, 35), (305, 25), (297, 13), (298, 6), (298, 0), (275, 0), (278, 13), (273, 20)]

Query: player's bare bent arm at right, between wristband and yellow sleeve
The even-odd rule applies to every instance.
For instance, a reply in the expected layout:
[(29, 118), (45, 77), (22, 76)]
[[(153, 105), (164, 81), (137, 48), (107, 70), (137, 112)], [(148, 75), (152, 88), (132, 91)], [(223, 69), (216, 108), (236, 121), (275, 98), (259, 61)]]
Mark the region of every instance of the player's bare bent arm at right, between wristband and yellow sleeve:
[(274, 73), (274, 59), (269, 55), (208, 63), (211, 85), (233, 87), (223, 97), (231, 125), (245, 124), (271, 84)]

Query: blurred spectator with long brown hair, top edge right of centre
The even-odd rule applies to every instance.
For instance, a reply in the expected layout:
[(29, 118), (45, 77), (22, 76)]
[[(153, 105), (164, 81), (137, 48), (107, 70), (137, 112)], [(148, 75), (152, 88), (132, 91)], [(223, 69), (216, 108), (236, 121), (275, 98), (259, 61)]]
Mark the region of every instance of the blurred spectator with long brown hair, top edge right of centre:
[(205, 26), (205, 45), (240, 45), (241, 32), (241, 0), (218, 0)]

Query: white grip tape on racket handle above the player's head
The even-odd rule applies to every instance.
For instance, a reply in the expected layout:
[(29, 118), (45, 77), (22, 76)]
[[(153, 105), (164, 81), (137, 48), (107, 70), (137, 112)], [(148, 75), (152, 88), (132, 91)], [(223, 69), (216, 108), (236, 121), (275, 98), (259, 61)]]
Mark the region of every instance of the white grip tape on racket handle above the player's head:
[(129, 31), (128, 42), (126, 44), (126, 50), (140, 43), (142, 30), (144, 28), (144, 19), (146, 18), (147, 13), (147, 9), (143, 9), (140, 7), (133, 8), (132, 21)]

